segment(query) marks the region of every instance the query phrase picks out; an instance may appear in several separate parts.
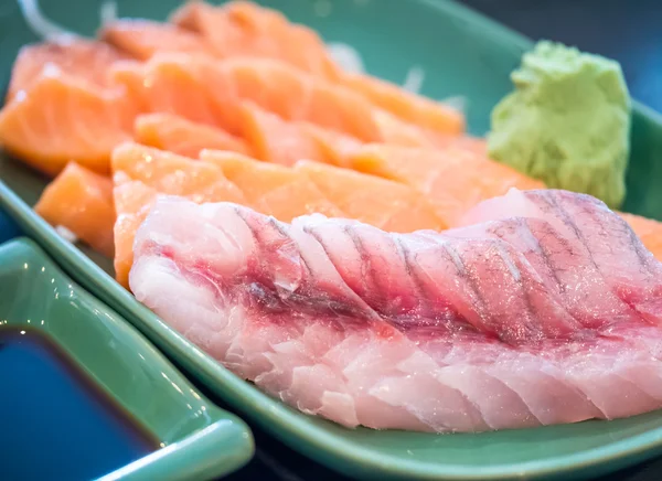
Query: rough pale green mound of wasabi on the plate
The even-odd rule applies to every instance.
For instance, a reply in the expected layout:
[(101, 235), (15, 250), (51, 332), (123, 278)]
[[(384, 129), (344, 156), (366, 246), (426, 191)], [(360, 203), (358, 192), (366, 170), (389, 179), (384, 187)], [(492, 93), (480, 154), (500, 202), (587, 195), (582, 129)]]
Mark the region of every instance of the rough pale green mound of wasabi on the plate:
[(492, 159), (612, 209), (626, 196), (630, 95), (617, 62), (538, 42), (492, 111)]

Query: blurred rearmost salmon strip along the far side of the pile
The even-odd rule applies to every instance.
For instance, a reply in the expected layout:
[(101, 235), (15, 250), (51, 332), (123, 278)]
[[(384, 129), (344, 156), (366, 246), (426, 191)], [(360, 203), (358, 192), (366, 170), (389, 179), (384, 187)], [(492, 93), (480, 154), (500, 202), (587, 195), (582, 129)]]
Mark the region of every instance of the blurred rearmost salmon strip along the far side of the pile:
[(382, 79), (342, 72), (314, 31), (289, 22), (275, 10), (246, 1), (222, 7), (195, 1), (175, 12), (172, 21), (199, 32), (223, 57), (276, 58), (337, 82), (413, 125), (442, 133), (465, 131), (465, 117), (452, 107)]

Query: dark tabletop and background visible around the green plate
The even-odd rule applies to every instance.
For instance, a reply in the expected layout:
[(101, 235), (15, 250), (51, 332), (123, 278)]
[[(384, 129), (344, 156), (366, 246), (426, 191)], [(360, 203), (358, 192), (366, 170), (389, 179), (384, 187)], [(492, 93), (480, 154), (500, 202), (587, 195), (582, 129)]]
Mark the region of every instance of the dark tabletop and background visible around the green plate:
[[(404, 1), (404, 0), (403, 0)], [(501, 23), (620, 62), (631, 95), (662, 111), (662, 0), (463, 0)], [(268, 438), (255, 427), (257, 455), (239, 480), (342, 480)], [(662, 460), (600, 481), (660, 481)]]

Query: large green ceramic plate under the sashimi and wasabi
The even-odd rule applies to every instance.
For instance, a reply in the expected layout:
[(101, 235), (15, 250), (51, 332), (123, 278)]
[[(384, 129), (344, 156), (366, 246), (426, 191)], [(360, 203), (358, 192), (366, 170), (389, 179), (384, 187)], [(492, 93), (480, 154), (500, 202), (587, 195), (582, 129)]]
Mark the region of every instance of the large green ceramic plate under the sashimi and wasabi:
[[(97, 2), (42, 3), (49, 17), (79, 32), (92, 33), (98, 23)], [(153, 19), (166, 18), (178, 4), (175, 0), (118, 3), (120, 15)], [(373, 74), (399, 83), (409, 67), (423, 67), (425, 94), (468, 97), (469, 126), (474, 133), (487, 130), (492, 106), (511, 88), (511, 70), (531, 46), (526, 39), (444, 0), (271, 0), (268, 4), (316, 28), (327, 40), (354, 45)], [(8, 53), (0, 71), (8, 75), (9, 53), (33, 38), (18, 9), (0, 21)], [(662, 121), (640, 105), (634, 110), (632, 146), (626, 207), (662, 218), (662, 190), (655, 188), (662, 182), (662, 163), (655, 163), (662, 158)], [(0, 162), (0, 175), (6, 182), (0, 185), (0, 206), (78, 282), (114, 306), (218, 397), (332, 469), (378, 479), (567, 479), (606, 473), (662, 452), (662, 413), (611, 423), (446, 436), (349, 430), (301, 415), (203, 354), (136, 302), (84, 252), (62, 240), (30, 210), (43, 179), (10, 160)]]

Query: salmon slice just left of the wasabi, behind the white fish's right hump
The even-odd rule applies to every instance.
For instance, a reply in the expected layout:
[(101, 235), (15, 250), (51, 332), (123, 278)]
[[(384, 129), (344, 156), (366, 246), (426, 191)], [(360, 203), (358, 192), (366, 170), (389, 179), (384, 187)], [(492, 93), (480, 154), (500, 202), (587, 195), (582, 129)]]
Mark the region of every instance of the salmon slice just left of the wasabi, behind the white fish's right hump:
[(511, 188), (543, 188), (542, 182), (471, 150), (372, 145), (351, 156), (350, 164), (418, 190), (448, 226), (456, 225), (479, 202), (503, 195)]

